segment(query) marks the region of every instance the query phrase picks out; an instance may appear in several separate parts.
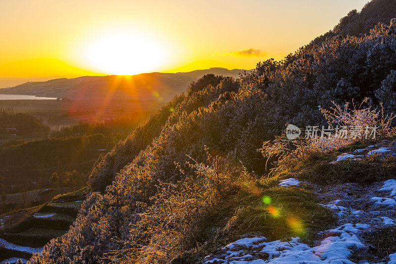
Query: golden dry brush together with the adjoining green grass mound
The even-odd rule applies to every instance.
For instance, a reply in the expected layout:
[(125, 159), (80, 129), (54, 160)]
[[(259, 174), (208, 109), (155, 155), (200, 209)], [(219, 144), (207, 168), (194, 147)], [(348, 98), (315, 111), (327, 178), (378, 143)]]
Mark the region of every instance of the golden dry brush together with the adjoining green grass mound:
[(155, 203), (139, 214), (131, 233), (130, 241), (141, 244), (128, 245), (131, 250), (116, 252), (110, 259), (194, 263), (198, 256), (246, 233), (270, 239), (305, 237), (335, 220), (328, 209), (317, 205), (311, 192), (278, 187), (277, 177), (259, 180), (227, 160), (209, 161), (208, 166), (192, 165), (196, 175), (186, 176), (180, 184), (158, 186)]

